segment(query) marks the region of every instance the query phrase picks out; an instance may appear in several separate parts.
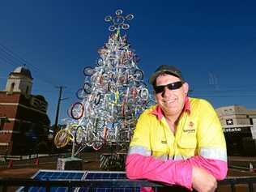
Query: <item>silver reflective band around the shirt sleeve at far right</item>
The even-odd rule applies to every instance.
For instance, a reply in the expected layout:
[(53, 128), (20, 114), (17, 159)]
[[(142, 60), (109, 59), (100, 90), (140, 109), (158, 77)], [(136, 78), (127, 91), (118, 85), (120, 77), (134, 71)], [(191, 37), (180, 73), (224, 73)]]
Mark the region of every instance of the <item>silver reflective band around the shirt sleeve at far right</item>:
[(227, 151), (219, 147), (201, 147), (199, 155), (207, 159), (224, 160), (227, 162)]

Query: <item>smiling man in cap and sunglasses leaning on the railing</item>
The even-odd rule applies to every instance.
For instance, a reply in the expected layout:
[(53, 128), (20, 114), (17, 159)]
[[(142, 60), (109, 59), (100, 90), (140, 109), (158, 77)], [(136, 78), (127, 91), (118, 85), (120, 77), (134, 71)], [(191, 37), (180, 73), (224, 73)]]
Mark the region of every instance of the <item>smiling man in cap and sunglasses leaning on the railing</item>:
[(150, 83), (157, 104), (139, 117), (126, 158), (127, 177), (214, 191), (228, 170), (215, 110), (206, 100), (187, 96), (189, 85), (174, 66), (157, 68)]

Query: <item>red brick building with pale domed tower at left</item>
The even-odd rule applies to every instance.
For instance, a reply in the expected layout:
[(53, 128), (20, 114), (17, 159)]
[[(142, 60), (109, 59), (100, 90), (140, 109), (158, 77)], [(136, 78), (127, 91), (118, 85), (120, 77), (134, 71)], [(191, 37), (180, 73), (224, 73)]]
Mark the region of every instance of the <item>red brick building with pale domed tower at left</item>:
[(49, 117), (44, 96), (32, 95), (32, 75), (24, 66), (10, 73), (0, 92), (0, 153), (23, 155), (47, 139)]

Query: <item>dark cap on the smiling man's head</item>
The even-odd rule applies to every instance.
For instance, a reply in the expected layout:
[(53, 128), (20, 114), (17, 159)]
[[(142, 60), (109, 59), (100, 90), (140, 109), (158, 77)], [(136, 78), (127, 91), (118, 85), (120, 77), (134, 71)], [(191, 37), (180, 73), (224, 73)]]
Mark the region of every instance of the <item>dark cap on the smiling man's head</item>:
[(162, 65), (162, 66), (158, 67), (155, 70), (155, 72), (151, 75), (151, 77), (149, 79), (149, 83), (153, 84), (155, 82), (156, 78), (162, 73), (176, 76), (179, 79), (181, 79), (181, 81), (184, 81), (182, 78), (182, 75), (181, 75), (181, 70), (178, 70), (175, 66)]

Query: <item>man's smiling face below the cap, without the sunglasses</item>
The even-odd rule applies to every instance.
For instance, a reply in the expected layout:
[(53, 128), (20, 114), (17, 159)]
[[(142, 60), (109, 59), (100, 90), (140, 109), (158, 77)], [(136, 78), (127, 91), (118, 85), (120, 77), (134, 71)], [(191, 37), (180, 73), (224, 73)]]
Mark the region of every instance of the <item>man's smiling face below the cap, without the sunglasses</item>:
[[(181, 79), (173, 75), (159, 75), (156, 78), (156, 86), (167, 85), (179, 81), (181, 81)], [(164, 87), (163, 92), (156, 93), (156, 91), (154, 91), (154, 95), (156, 97), (156, 102), (160, 105), (160, 108), (164, 111), (166, 116), (178, 116), (184, 107), (188, 90), (188, 84), (183, 83), (182, 86), (177, 89), (169, 90), (168, 87)]]

